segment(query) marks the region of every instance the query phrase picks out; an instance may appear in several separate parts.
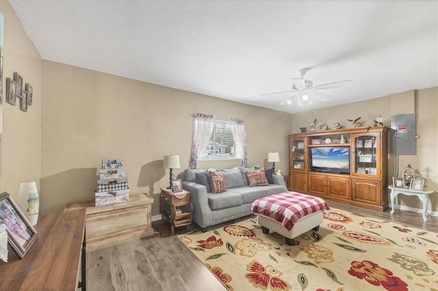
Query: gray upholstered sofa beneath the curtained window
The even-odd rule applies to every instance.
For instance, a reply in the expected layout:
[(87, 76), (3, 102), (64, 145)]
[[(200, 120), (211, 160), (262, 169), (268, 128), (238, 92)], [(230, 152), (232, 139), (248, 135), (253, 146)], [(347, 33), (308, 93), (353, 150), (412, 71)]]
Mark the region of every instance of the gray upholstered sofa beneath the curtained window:
[(227, 191), (222, 193), (211, 193), (211, 189), (207, 191), (209, 185), (205, 184), (205, 181), (200, 181), (202, 174), (205, 175), (208, 171), (185, 169), (183, 173), (179, 174), (183, 189), (190, 191), (193, 221), (201, 227), (203, 232), (210, 225), (253, 213), (251, 206), (256, 199), (287, 191), (283, 176), (272, 174), (272, 169), (269, 171), (269, 168), (266, 169), (266, 176), (270, 182), (268, 186), (248, 186), (246, 172), (254, 169), (255, 167), (235, 167), (227, 170), (209, 169), (210, 171), (220, 171), (224, 175)]

